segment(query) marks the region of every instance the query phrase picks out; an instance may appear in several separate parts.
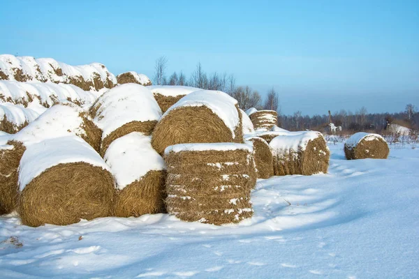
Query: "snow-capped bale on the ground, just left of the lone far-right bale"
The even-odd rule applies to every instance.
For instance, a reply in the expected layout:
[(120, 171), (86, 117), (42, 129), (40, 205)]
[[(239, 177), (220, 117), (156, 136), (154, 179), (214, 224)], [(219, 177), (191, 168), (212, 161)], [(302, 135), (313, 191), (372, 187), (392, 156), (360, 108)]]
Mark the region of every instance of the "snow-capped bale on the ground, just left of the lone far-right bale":
[(274, 174), (327, 173), (330, 151), (321, 133), (307, 131), (279, 135), (270, 142)]

